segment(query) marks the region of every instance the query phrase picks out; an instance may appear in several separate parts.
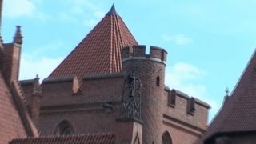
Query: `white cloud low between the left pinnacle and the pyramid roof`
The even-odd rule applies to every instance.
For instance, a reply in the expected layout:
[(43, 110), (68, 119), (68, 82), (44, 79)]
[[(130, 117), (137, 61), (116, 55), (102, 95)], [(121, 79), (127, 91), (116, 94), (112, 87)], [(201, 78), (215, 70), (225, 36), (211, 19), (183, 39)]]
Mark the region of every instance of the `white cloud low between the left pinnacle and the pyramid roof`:
[(23, 54), (21, 58), (19, 79), (32, 79), (39, 74), (41, 80), (49, 74), (62, 62), (63, 58), (31, 58), (30, 54)]

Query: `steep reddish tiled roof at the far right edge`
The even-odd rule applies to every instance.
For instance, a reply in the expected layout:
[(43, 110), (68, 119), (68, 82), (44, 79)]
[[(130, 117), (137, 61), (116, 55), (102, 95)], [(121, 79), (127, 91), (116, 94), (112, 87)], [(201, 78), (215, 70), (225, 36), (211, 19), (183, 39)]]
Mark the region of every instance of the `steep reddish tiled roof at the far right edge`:
[(204, 139), (220, 133), (256, 131), (256, 51), (246, 66), (233, 94), (210, 123)]

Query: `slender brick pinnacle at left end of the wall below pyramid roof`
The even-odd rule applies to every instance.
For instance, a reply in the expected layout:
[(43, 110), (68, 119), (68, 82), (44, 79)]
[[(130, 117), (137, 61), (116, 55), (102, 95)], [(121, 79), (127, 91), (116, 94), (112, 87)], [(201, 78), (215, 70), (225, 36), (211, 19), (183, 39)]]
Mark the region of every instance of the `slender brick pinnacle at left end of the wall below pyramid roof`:
[(36, 78), (34, 78), (33, 93), (31, 95), (31, 118), (36, 126), (38, 124), (38, 118), (40, 114), (41, 99), (42, 87), (39, 84), (39, 78), (37, 74)]

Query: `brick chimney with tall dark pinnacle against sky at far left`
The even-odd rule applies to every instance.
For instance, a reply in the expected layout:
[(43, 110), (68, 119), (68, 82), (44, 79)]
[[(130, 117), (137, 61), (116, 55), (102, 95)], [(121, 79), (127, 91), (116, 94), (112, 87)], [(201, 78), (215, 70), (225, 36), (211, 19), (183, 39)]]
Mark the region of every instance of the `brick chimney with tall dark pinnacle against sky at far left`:
[(4, 59), (2, 67), (5, 74), (6, 82), (10, 84), (10, 82), (12, 81), (18, 81), (19, 63), (22, 48), (21, 26), (17, 26), (16, 28), (13, 43), (3, 44), (3, 47)]

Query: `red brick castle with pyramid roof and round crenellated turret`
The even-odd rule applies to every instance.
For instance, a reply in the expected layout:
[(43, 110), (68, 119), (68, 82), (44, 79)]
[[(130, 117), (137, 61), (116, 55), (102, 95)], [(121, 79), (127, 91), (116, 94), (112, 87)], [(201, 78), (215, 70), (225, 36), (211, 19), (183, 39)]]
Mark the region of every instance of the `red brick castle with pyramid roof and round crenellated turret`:
[(41, 84), (18, 81), (20, 26), (0, 47), (0, 143), (227, 142), (215, 122), (206, 131), (206, 102), (165, 85), (167, 51), (146, 54), (114, 6)]

